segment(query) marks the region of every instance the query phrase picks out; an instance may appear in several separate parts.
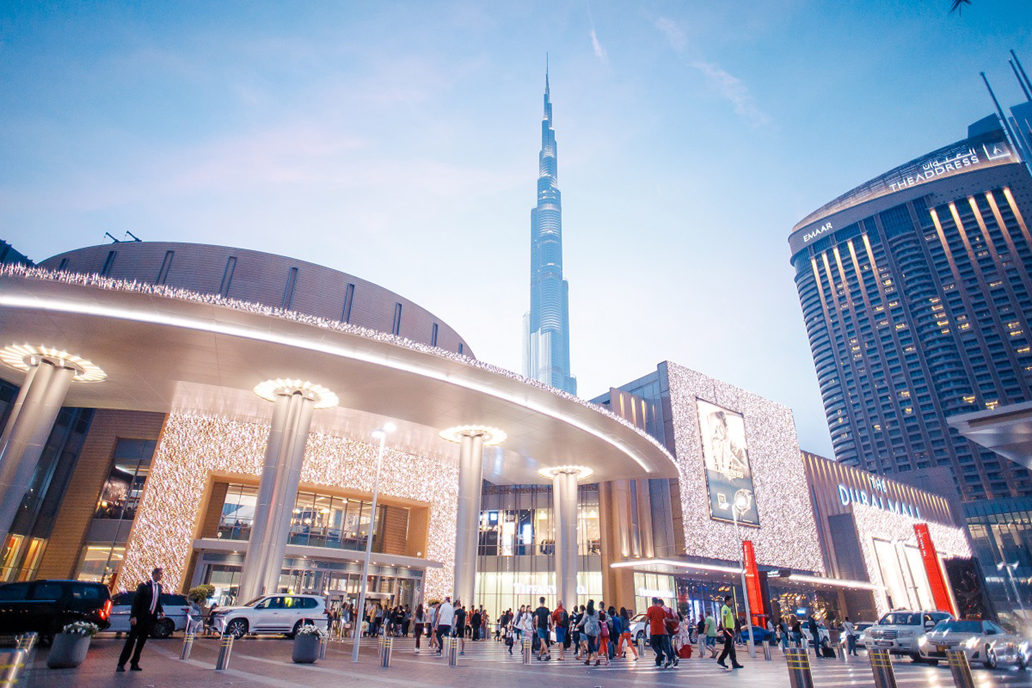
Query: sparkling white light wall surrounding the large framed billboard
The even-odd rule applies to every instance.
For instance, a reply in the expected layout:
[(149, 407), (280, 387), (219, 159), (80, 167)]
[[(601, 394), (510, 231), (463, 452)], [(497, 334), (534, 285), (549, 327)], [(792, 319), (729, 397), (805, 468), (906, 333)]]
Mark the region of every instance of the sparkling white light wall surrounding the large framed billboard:
[(817, 527), (806, 487), (792, 409), (675, 363), (667, 364), (688, 556), (737, 561), (739, 535), (710, 518), (696, 399), (742, 414), (752, 468), (759, 528), (741, 526), (756, 563), (824, 572)]

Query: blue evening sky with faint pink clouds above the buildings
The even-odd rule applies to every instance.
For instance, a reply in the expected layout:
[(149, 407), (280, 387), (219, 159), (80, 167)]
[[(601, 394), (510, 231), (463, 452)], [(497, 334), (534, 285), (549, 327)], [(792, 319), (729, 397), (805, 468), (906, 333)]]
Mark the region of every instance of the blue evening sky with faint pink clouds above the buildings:
[(671, 360), (830, 456), (793, 225), (1023, 95), (1032, 3), (0, 0), (0, 238), (283, 254), (520, 370), (549, 55), (571, 361)]

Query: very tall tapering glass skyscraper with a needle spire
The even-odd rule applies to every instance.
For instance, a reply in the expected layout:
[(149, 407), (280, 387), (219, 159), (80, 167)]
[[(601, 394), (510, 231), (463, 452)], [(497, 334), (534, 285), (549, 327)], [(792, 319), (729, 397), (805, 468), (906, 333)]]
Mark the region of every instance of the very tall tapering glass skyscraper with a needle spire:
[(557, 181), (546, 69), (538, 204), (530, 209), (530, 310), (523, 316), (523, 374), (577, 394), (577, 379), (570, 374), (570, 285), (562, 279), (562, 202)]

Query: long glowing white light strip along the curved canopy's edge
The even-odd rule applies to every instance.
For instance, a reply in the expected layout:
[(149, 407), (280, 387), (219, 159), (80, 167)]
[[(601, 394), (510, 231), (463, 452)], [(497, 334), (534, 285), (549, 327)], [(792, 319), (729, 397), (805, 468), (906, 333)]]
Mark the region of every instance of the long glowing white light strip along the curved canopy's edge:
[[(189, 316), (173, 316), (168, 314), (156, 313), (153, 310), (142, 310), (140, 308), (130, 308), (123, 306), (109, 306), (100, 305), (98, 303), (89, 303), (82, 301), (73, 301), (69, 299), (55, 298), (55, 297), (22, 297), (15, 294), (0, 294), (0, 305), (11, 307), (11, 308), (25, 308), (25, 309), (36, 309), (36, 310), (47, 310), (55, 313), (67, 313), (73, 315), (84, 315), (84, 316), (96, 316), (98, 318), (114, 318), (117, 320), (126, 320), (130, 322), (137, 323), (150, 323), (153, 325), (164, 325), (168, 327), (179, 327), (183, 329), (196, 330), (200, 332), (209, 332), (213, 334), (225, 334), (227, 336), (239, 337), (244, 339), (252, 339), (258, 341), (266, 341), (269, 343), (284, 345), (287, 347), (294, 347), (297, 349), (303, 349), (308, 351), (321, 352), (324, 354), (329, 354), (331, 356), (340, 356), (342, 358), (350, 358), (353, 360), (364, 361), (367, 363), (374, 363), (377, 365), (383, 365), (386, 367), (394, 368), (396, 370), (401, 370), (405, 372), (411, 372), (413, 374), (422, 375), (424, 378), (429, 378), (431, 380), (438, 380), (440, 382), (448, 383), (451, 385), (457, 385), (459, 387), (464, 387), (466, 389), (492, 396), (497, 399), (502, 399), (509, 403), (528, 408), (533, 412), (554, 418), (561, 421), (568, 425), (571, 425), (583, 432), (587, 432), (599, 439), (619, 449), (627, 457), (633, 459), (646, 473), (653, 473), (655, 469), (650, 467), (640, 456), (634, 448), (627, 445), (622, 439), (607, 435), (600, 430), (596, 430), (588, 423), (581, 421), (573, 416), (568, 416), (566, 414), (556, 413), (554, 409), (547, 407), (544, 404), (530, 401), (526, 398), (525, 394), (516, 392), (503, 392), (497, 388), (489, 385), (478, 383), (476, 381), (470, 380), (467, 378), (458, 378), (453, 373), (447, 372), (434, 366), (424, 365), (420, 363), (407, 362), (397, 359), (396, 357), (388, 356), (386, 354), (375, 354), (372, 352), (360, 351), (357, 348), (348, 348), (340, 345), (330, 343), (324, 340), (315, 339), (312, 337), (302, 337), (291, 334), (283, 334), (278, 332), (272, 332), (269, 330), (257, 330), (250, 327), (244, 327), (240, 325), (233, 325), (230, 323), (221, 323), (216, 321), (206, 321), (199, 318), (193, 318)], [(224, 307), (232, 307), (230, 305), (225, 305)], [(256, 314), (263, 315), (263, 314)], [(593, 409), (592, 409), (593, 411)], [(595, 413), (602, 413), (601, 411), (595, 411)], [(616, 418), (615, 416), (613, 417)], [(652, 444), (657, 451), (663, 452), (663, 454), (671, 461), (671, 464), (676, 466), (673, 457), (667, 452), (666, 449), (660, 447), (658, 443), (651, 436), (643, 431), (634, 428), (628, 425), (628, 428), (636, 431), (640, 436), (647, 439)]]

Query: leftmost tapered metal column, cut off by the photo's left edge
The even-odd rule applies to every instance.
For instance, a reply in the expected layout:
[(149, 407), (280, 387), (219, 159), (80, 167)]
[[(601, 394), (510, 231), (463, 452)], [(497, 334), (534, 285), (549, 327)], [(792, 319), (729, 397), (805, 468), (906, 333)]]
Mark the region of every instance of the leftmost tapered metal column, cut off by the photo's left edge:
[(34, 359), (0, 438), (0, 537), (14, 521), (61, 404), (79, 369), (60, 359)]

